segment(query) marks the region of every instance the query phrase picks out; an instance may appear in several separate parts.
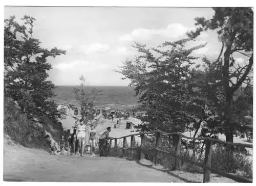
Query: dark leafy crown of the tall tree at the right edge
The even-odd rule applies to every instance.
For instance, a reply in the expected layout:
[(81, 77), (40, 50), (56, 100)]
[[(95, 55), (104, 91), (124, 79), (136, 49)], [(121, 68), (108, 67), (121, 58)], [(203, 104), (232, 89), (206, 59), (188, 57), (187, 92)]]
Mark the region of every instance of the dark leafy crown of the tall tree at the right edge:
[[(219, 39), (225, 46), (223, 64), (223, 86), (226, 97), (233, 95), (244, 81), (252, 69), (253, 64), (253, 11), (251, 8), (213, 8), (215, 15), (205, 20), (204, 17), (195, 18), (197, 30), (188, 33), (191, 38), (196, 38), (203, 31), (214, 30), (218, 33)], [(236, 61), (232, 54), (238, 52), (249, 58), (248, 65), (239, 67), (237, 73), (237, 83), (229, 85), (232, 75), (229, 75), (230, 67)]]

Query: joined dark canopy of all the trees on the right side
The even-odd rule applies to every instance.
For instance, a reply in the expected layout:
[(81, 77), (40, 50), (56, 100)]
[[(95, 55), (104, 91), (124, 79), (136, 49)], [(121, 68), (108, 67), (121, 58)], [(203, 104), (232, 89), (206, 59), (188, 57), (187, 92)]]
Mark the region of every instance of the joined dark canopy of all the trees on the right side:
[[(143, 55), (126, 60), (117, 71), (131, 80), (142, 108), (148, 111), (148, 117), (143, 118), (146, 123), (139, 128), (188, 129), (195, 131), (195, 137), (204, 121), (204, 136), (221, 132), (232, 142), (234, 134), (244, 134), (244, 118), (252, 111), (253, 12), (251, 8), (214, 11), (209, 20), (195, 19), (197, 29), (187, 33), (189, 39), (151, 49), (137, 43), (134, 47)], [(222, 42), (220, 54), (215, 60), (202, 57), (203, 68), (193, 68), (197, 58), (191, 53), (204, 45), (184, 46), (208, 30), (217, 32), (216, 39)], [(234, 54), (243, 55), (244, 65)]]

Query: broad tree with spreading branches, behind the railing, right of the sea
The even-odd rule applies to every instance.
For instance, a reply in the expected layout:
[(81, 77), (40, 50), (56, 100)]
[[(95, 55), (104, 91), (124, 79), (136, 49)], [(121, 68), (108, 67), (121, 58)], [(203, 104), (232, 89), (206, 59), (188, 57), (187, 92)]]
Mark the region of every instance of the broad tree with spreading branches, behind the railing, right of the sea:
[(138, 126), (142, 131), (184, 132), (186, 124), (194, 120), (195, 108), (201, 109), (201, 105), (195, 104), (197, 97), (191, 94), (194, 91), (189, 79), (190, 66), (197, 59), (191, 53), (205, 44), (186, 49), (188, 41), (191, 39), (164, 42), (151, 49), (136, 43), (133, 47), (143, 55), (127, 59), (116, 70), (131, 80), (130, 86), (135, 87), (139, 102), (148, 112), (148, 117), (142, 118), (144, 123)]

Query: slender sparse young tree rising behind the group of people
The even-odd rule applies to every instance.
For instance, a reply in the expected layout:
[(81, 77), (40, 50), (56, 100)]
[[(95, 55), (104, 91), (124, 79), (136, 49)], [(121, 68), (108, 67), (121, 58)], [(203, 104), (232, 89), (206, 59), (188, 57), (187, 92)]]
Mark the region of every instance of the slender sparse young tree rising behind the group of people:
[[(76, 120), (76, 124), (78, 122), (85, 122), (86, 124), (88, 122), (93, 121), (94, 117), (96, 116), (96, 110), (94, 109), (94, 101), (98, 97), (99, 93), (101, 91), (97, 89), (93, 89), (91, 91), (86, 90), (86, 78), (84, 78), (83, 75), (79, 77), (79, 80), (81, 81), (80, 86), (77, 86), (74, 88), (74, 95), (75, 99), (79, 105), (79, 117), (72, 116)], [(70, 107), (72, 110), (75, 110), (76, 108), (71, 105)]]

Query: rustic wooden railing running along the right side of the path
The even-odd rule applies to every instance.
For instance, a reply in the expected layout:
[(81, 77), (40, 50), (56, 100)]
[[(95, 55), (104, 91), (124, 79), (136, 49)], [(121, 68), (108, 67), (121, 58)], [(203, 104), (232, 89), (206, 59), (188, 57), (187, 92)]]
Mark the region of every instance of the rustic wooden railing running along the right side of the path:
[[(150, 134), (155, 134), (156, 136), (156, 143), (155, 143), (155, 148), (143, 148), (142, 144), (143, 144), (143, 140), (144, 137), (146, 135), (150, 135)], [(166, 150), (162, 150), (159, 148), (159, 146), (161, 146), (161, 142), (162, 142), (162, 137), (163, 135), (170, 135), (173, 136), (173, 149), (174, 151), (166, 151)], [(141, 137), (141, 144), (138, 147), (135, 147), (135, 136), (140, 136)], [(131, 145), (130, 147), (127, 147), (127, 138), (131, 137)], [(189, 158), (185, 158), (183, 157), (180, 152), (181, 152), (181, 138), (186, 138), (186, 139), (191, 139), (191, 140), (202, 140), (205, 143), (205, 158), (204, 158), (204, 163), (198, 163), (195, 162), (193, 160), (190, 160)], [(117, 139), (123, 139), (123, 143), (122, 143), (122, 147), (118, 147), (117, 146)], [(212, 142), (215, 143), (220, 143), (220, 144), (225, 144), (225, 145), (229, 145), (229, 146), (239, 146), (239, 147), (247, 147), (247, 148), (252, 148), (252, 145), (250, 144), (241, 144), (241, 143), (230, 143), (230, 142), (224, 142), (218, 139), (212, 139), (212, 138), (190, 138), (187, 136), (182, 135), (179, 132), (172, 132), (172, 133), (168, 133), (168, 132), (164, 132), (161, 130), (154, 130), (152, 132), (147, 132), (147, 133), (138, 133), (138, 134), (132, 134), (132, 135), (127, 135), (127, 136), (123, 136), (120, 138), (114, 138), (110, 140), (110, 145), (112, 147), (112, 143), (114, 141), (114, 148), (111, 148), (114, 151), (117, 150), (122, 150), (120, 153), (120, 157), (123, 157), (123, 154), (125, 153), (125, 151), (127, 150), (136, 150), (138, 152), (138, 156), (137, 159), (141, 160), (144, 159), (144, 152), (153, 152), (155, 158), (154, 158), (154, 162), (156, 164), (156, 160), (157, 160), (157, 155), (158, 153), (163, 153), (163, 154), (168, 154), (170, 156), (174, 156), (175, 157), (175, 161), (174, 161), (174, 165), (173, 165), (173, 170), (178, 169), (181, 167), (181, 161), (182, 162), (187, 162), (193, 165), (197, 165), (199, 167), (203, 168), (203, 172), (204, 172), (204, 176), (203, 176), (203, 182), (209, 182), (210, 181), (210, 174), (211, 173), (216, 173), (219, 174), (221, 176), (233, 179), (235, 181), (238, 182), (252, 182), (251, 180), (242, 178), (240, 176), (236, 176), (236, 175), (231, 175), (228, 174), (226, 172), (217, 170), (215, 168), (211, 167), (211, 146), (212, 146)]]

